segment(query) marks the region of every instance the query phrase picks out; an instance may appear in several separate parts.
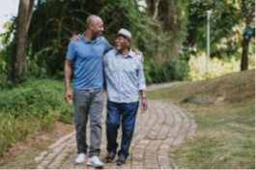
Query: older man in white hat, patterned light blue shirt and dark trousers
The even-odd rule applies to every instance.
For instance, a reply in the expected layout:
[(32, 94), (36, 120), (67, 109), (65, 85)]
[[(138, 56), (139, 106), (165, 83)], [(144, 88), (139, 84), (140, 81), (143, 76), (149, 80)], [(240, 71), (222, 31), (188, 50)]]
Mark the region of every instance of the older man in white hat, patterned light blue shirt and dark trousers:
[(141, 57), (129, 49), (131, 35), (121, 29), (116, 35), (115, 49), (103, 57), (107, 86), (106, 162), (111, 162), (117, 154), (117, 136), (122, 124), (121, 150), (117, 165), (125, 163), (128, 148), (135, 127), (136, 113), (141, 97), (142, 112), (147, 109), (146, 83)]

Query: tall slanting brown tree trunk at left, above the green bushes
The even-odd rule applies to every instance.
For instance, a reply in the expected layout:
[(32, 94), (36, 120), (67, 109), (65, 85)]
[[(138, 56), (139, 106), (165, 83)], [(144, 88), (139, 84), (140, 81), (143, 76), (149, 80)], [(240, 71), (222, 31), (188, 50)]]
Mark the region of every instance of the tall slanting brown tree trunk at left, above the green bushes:
[(16, 81), (22, 77), (26, 68), (27, 38), (30, 20), (33, 14), (34, 0), (19, 0), (14, 34), (15, 55), (12, 70), (12, 79)]

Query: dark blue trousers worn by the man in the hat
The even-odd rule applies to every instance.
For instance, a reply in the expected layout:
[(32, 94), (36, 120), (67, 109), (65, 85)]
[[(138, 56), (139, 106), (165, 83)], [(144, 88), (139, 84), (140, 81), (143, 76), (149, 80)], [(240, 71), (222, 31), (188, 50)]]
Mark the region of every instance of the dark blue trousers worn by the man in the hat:
[(122, 124), (122, 142), (118, 156), (127, 158), (139, 102), (117, 103), (107, 100), (106, 137), (108, 153), (117, 152), (117, 136)]

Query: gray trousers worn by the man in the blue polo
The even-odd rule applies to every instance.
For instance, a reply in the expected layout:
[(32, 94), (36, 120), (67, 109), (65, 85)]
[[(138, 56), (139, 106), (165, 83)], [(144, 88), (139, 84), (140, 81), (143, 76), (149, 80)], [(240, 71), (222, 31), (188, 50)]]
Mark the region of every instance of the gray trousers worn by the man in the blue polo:
[(90, 156), (100, 155), (101, 116), (103, 109), (103, 91), (74, 90), (74, 123), (76, 129), (77, 154), (87, 154), (86, 126), (90, 115)]

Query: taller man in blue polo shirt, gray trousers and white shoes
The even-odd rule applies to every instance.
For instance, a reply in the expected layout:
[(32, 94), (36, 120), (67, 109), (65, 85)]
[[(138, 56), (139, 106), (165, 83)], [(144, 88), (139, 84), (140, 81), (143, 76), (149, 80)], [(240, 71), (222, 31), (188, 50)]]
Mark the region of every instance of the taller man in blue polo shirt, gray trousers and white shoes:
[[(100, 35), (103, 22), (97, 15), (86, 19), (87, 30), (76, 42), (71, 41), (65, 64), (65, 99), (74, 104), (74, 123), (78, 156), (75, 163), (86, 159), (86, 125), (90, 114), (90, 150), (87, 163), (100, 168), (101, 114), (103, 108), (102, 56), (111, 45)], [(71, 96), (71, 75), (73, 97)]]

